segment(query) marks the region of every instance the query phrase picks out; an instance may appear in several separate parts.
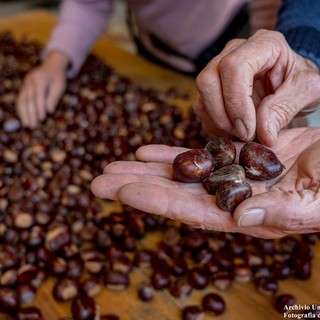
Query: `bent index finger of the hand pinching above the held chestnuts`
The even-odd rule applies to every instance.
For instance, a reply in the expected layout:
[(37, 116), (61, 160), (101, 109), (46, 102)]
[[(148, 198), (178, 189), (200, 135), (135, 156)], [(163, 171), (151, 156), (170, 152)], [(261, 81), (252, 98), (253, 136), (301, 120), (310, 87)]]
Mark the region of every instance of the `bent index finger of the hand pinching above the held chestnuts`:
[(259, 32), (220, 61), (225, 107), (242, 140), (252, 139), (256, 130), (253, 82), (271, 70), (281, 54), (278, 44), (284, 39), (277, 33), (272, 35), (269, 39), (269, 33)]

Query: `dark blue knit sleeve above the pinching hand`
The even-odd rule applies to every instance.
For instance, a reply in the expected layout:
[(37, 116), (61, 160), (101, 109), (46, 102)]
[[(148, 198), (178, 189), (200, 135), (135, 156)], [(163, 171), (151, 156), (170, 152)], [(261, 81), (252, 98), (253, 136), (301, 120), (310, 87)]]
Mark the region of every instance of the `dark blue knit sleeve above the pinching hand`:
[(283, 0), (277, 30), (300, 56), (320, 69), (320, 1)]

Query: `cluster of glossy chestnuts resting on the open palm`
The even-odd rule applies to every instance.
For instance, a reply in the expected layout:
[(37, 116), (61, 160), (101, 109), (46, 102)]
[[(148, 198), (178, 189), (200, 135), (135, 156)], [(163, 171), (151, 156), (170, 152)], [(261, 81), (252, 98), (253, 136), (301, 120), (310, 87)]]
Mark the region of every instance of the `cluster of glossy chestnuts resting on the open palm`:
[(204, 149), (192, 149), (176, 156), (172, 164), (175, 180), (202, 182), (217, 205), (229, 212), (252, 196), (245, 180), (270, 180), (278, 177), (284, 165), (275, 153), (257, 142), (247, 142), (240, 150), (239, 164), (234, 164), (236, 147), (227, 137), (212, 138)]

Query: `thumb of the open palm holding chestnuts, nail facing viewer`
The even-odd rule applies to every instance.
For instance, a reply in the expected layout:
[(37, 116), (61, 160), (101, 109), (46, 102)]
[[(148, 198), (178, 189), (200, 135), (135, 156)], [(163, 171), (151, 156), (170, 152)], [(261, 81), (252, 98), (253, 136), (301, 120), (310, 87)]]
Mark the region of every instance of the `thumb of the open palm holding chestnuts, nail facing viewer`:
[(320, 201), (311, 190), (268, 191), (243, 201), (234, 212), (239, 227), (264, 226), (285, 233), (320, 227)]

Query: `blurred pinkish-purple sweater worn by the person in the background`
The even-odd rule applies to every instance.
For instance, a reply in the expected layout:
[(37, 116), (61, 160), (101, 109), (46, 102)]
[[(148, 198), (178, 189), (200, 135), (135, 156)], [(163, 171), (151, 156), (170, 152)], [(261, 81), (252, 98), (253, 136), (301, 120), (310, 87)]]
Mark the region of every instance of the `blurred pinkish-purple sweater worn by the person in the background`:
[[(275, 3), (279, 0), (254, 0)], [(192, 66), (185, 59), (156, 50), (148, 34), (184, 55), (194, 58), (214, 41), (238, 10), (250, 0), (127, 0), (144, 45), (158, 58), (185, 71)], [(58, 24), (44, 55), (61, 51), (71, 61), (68, 76), (75, 76), (88, 52), (104, 31), (112, 14), (112, 0), (64, 0)], [(261, 22), (261, 19), (259, 19)]]

